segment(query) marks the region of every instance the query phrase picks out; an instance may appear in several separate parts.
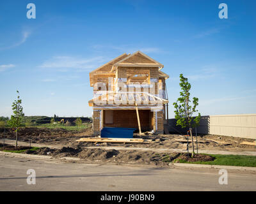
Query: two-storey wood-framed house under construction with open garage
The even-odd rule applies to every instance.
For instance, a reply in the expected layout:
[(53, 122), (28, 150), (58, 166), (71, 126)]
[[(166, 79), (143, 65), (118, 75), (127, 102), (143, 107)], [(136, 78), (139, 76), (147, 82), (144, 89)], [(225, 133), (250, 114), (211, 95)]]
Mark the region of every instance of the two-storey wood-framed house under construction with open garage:
[(138, 51), (122, 54), (90, 72), (93, 134), (104, 127), (163, 133), (168, 94), (163, 64)]

